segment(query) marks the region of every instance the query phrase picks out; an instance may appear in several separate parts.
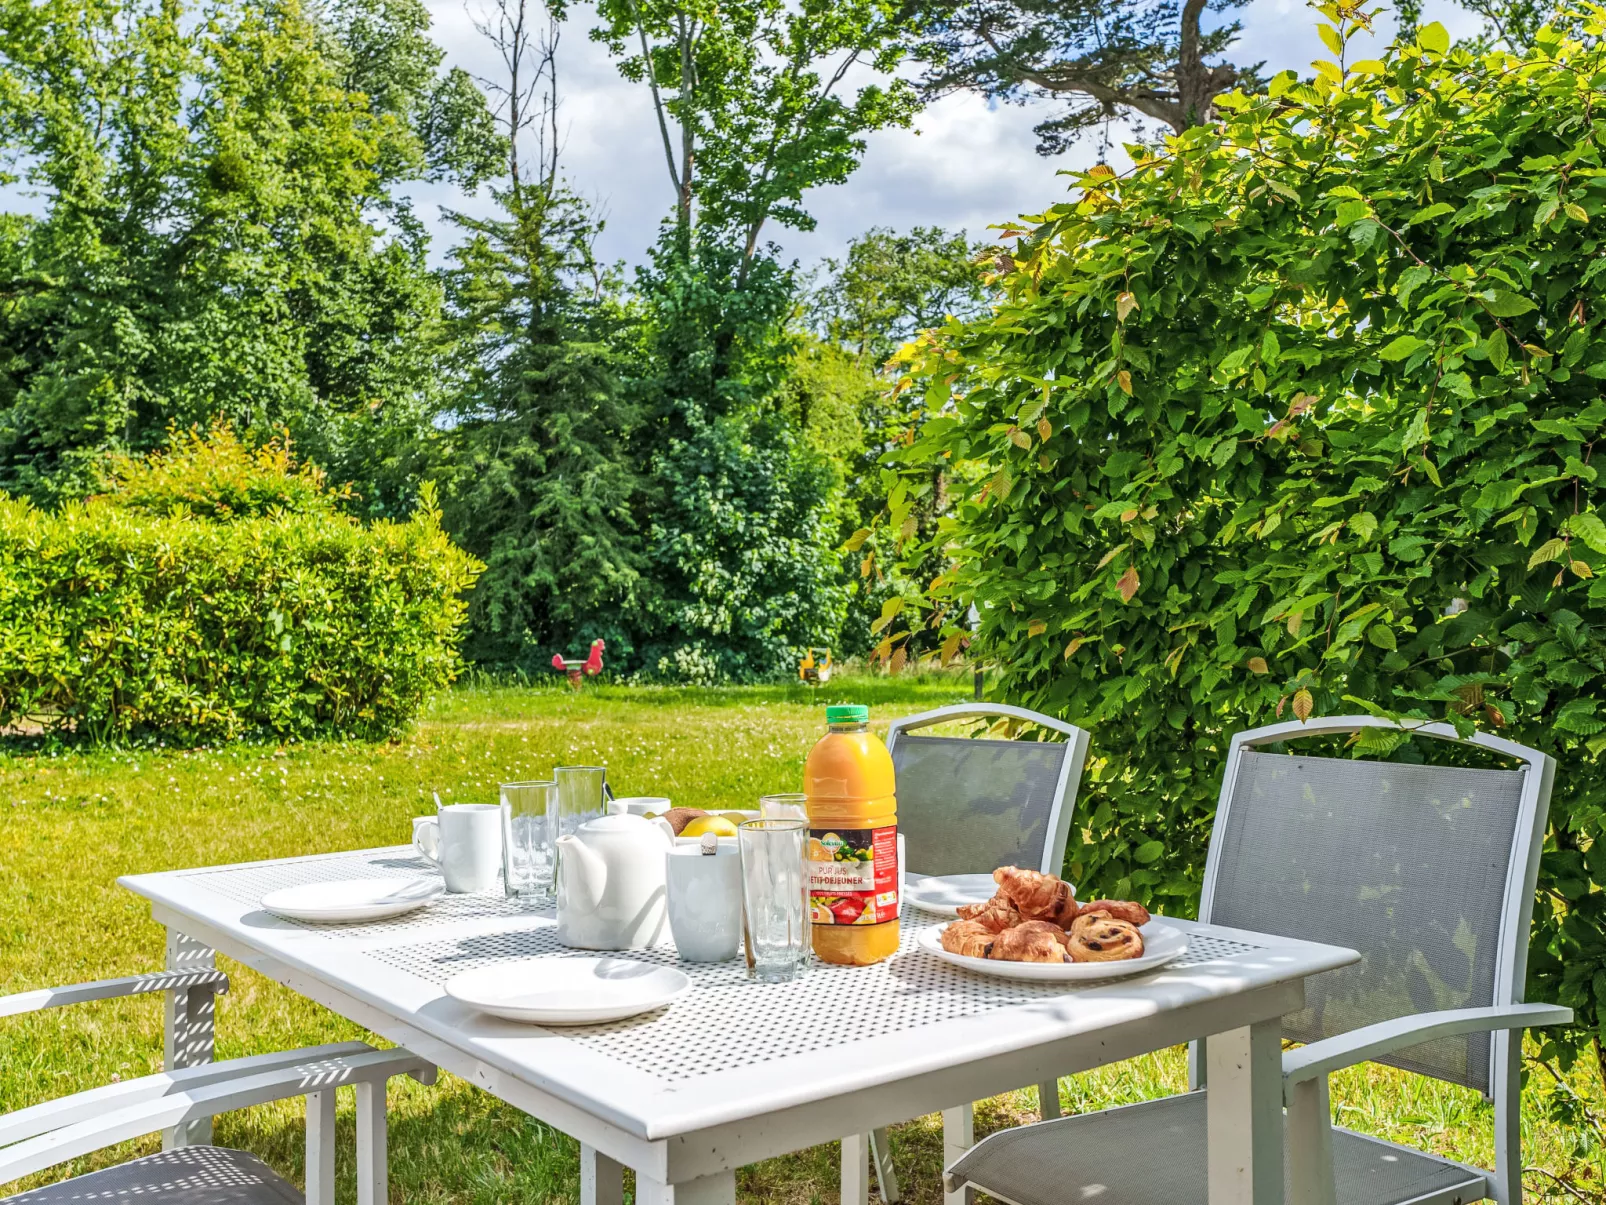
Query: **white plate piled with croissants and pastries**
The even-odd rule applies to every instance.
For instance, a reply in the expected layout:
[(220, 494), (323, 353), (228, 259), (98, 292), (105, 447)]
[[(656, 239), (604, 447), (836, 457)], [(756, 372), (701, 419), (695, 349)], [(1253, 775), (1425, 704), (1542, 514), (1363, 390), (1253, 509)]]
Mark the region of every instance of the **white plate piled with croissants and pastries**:
[(917, 942), (944, 962), (997, 978), (1074, 982), (1153, 970), (1179, 958), (1182, 930), (1131, 900), (1078, 903), (1063, 879), (1018, 866), (993, 872), (991, 900), (931, 925)]

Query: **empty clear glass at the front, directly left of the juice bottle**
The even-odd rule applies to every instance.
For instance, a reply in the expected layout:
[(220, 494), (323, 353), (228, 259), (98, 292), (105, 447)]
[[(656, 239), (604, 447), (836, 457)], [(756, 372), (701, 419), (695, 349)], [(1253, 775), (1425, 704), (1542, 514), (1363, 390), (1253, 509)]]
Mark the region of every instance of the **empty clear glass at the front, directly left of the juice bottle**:
[(750, 819), (736, 831), (747, 906), (747, 974), (760, 983), (787, 983), (808, 954), (803, 908), (801, 819)]

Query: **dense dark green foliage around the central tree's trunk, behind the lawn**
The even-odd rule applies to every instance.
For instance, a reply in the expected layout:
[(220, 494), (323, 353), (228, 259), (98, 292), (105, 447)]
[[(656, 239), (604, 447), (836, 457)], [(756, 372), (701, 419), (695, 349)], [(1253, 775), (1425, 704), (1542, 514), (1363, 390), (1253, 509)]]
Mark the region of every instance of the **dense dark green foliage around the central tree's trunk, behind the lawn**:
[[(745, 272), (745, 280), (739, 278)], [(832, 644), (846, 601), (835, 546), (838, 480), (789, 421), (797, 341), (792, 273), (668, 230), (636, 283), (649, 670), (771, 678), (798, 647)]]

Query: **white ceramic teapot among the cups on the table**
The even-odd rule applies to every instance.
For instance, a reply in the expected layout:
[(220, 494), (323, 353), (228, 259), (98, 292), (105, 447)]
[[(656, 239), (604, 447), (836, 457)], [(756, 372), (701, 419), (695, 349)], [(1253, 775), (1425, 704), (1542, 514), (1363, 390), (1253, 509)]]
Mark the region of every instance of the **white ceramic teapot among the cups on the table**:
[(665, 929), (663, 818), (610, 815), (557, 839), (557, 940), (580, 950), (641, 950)]

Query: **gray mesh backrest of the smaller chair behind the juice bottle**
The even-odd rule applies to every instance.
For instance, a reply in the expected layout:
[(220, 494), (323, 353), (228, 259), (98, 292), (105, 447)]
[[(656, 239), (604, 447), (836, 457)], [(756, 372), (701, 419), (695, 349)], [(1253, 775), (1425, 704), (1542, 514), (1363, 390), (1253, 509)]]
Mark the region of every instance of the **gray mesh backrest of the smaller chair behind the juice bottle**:
[[(919, 736), (956, 720), (1013, 718), (1065, 741)], [(1087, 733), (1023, 707), (959, 704), (895, 720), (898, 831), (912, 874), (978, 874), (999, 866), (1060, 872)]]

